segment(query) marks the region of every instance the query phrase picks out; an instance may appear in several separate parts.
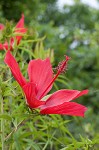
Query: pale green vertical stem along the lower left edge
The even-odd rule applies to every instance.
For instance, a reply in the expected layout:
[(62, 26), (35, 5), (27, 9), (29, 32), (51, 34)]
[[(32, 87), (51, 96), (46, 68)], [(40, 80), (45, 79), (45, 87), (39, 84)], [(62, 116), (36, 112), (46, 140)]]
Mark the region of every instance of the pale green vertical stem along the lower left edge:
[[(4, 113), (3, 110), (3, 97), (2, 97), (2, 90), (0, 89), (0, 99), (1, 99), (1, 114)], [(1, 143), (2, 143), (2, 150), (4, 150), (4, 119), (1, 118)]]

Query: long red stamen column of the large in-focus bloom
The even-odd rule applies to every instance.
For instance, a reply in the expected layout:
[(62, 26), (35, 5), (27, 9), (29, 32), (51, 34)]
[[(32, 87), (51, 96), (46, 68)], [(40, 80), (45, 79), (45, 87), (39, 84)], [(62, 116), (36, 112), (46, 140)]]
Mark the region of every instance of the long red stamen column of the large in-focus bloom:
[(44, 94), (50, 88), (50, 86), (53, 84), (53, 82), (57, 79), (57, 77), (59, 76), (59, 74), (61, 74), (62, 72), (64, 72), (67, 69), (67, 62), (68, 62), (68, 60), (70, 60), (70, 57), (65, 56), (65, 58), (66, 58), (65, 60), (63, 60), (62, 62), (59, 63), (59, 65), (57, 67), (57, 74), (54, 76), (53, 80), (46, 87), (46, 89), (44, 90), (44, 92), (40, 96), (40, 99), (44, 96)]

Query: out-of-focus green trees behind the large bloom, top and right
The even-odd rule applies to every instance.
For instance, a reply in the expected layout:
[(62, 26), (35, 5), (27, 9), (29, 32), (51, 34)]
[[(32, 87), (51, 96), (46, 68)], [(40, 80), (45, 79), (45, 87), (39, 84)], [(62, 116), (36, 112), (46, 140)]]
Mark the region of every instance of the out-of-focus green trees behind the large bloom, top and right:
[(63, 9), (57, 0), (0, 0), (1, 23), (16, 23), (22, 13), (31, 35), (46, 36), (45, 49), (54, 49), (54, 66), (65, 54), (71, 57), (64, 75), (66, 85), (57, 83), (58, 88), (89, 89), (79, 100), (89, 110), (84, 119), (74, 117), (69, 130), (75, 137), (81, 134), (93, 139), (99, 130), (99, 9), (80, 0)]

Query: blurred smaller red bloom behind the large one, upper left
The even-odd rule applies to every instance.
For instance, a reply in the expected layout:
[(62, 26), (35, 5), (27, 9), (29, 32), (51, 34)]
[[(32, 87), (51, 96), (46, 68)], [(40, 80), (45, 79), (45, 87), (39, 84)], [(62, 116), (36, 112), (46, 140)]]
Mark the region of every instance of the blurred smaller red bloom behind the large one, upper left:
[(20, 43), (20, 40), (22, 39), (22, 35), (25, 34), (26, 31), (27, 29), (24, 27), (24, 15), (22, 14), (21, 19), (19, 20), (19, 22), (17, 23), (14, 29), (14, 33), (16, 34), (15, 38), (12, 37), (9, 43), (7, 41), (5, 41), (4, 44), (0, 43), (0, 50), (13, 50), (13, 45), (15, 41), (16, 44), (18, 45)]

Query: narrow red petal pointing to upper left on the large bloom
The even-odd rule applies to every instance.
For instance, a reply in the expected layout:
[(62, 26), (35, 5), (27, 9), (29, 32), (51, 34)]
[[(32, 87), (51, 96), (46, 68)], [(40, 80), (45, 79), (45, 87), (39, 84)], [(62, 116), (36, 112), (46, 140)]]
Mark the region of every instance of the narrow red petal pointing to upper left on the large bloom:
[(12, 56), (10, 51), (6, 53), (4, 62), (10, 67), (14, 78), (17, 80), (20, 86), (24, 86), (26, 84), (26, 79), (23, 77), (18, 63), (16, 62), (15, 58)]

